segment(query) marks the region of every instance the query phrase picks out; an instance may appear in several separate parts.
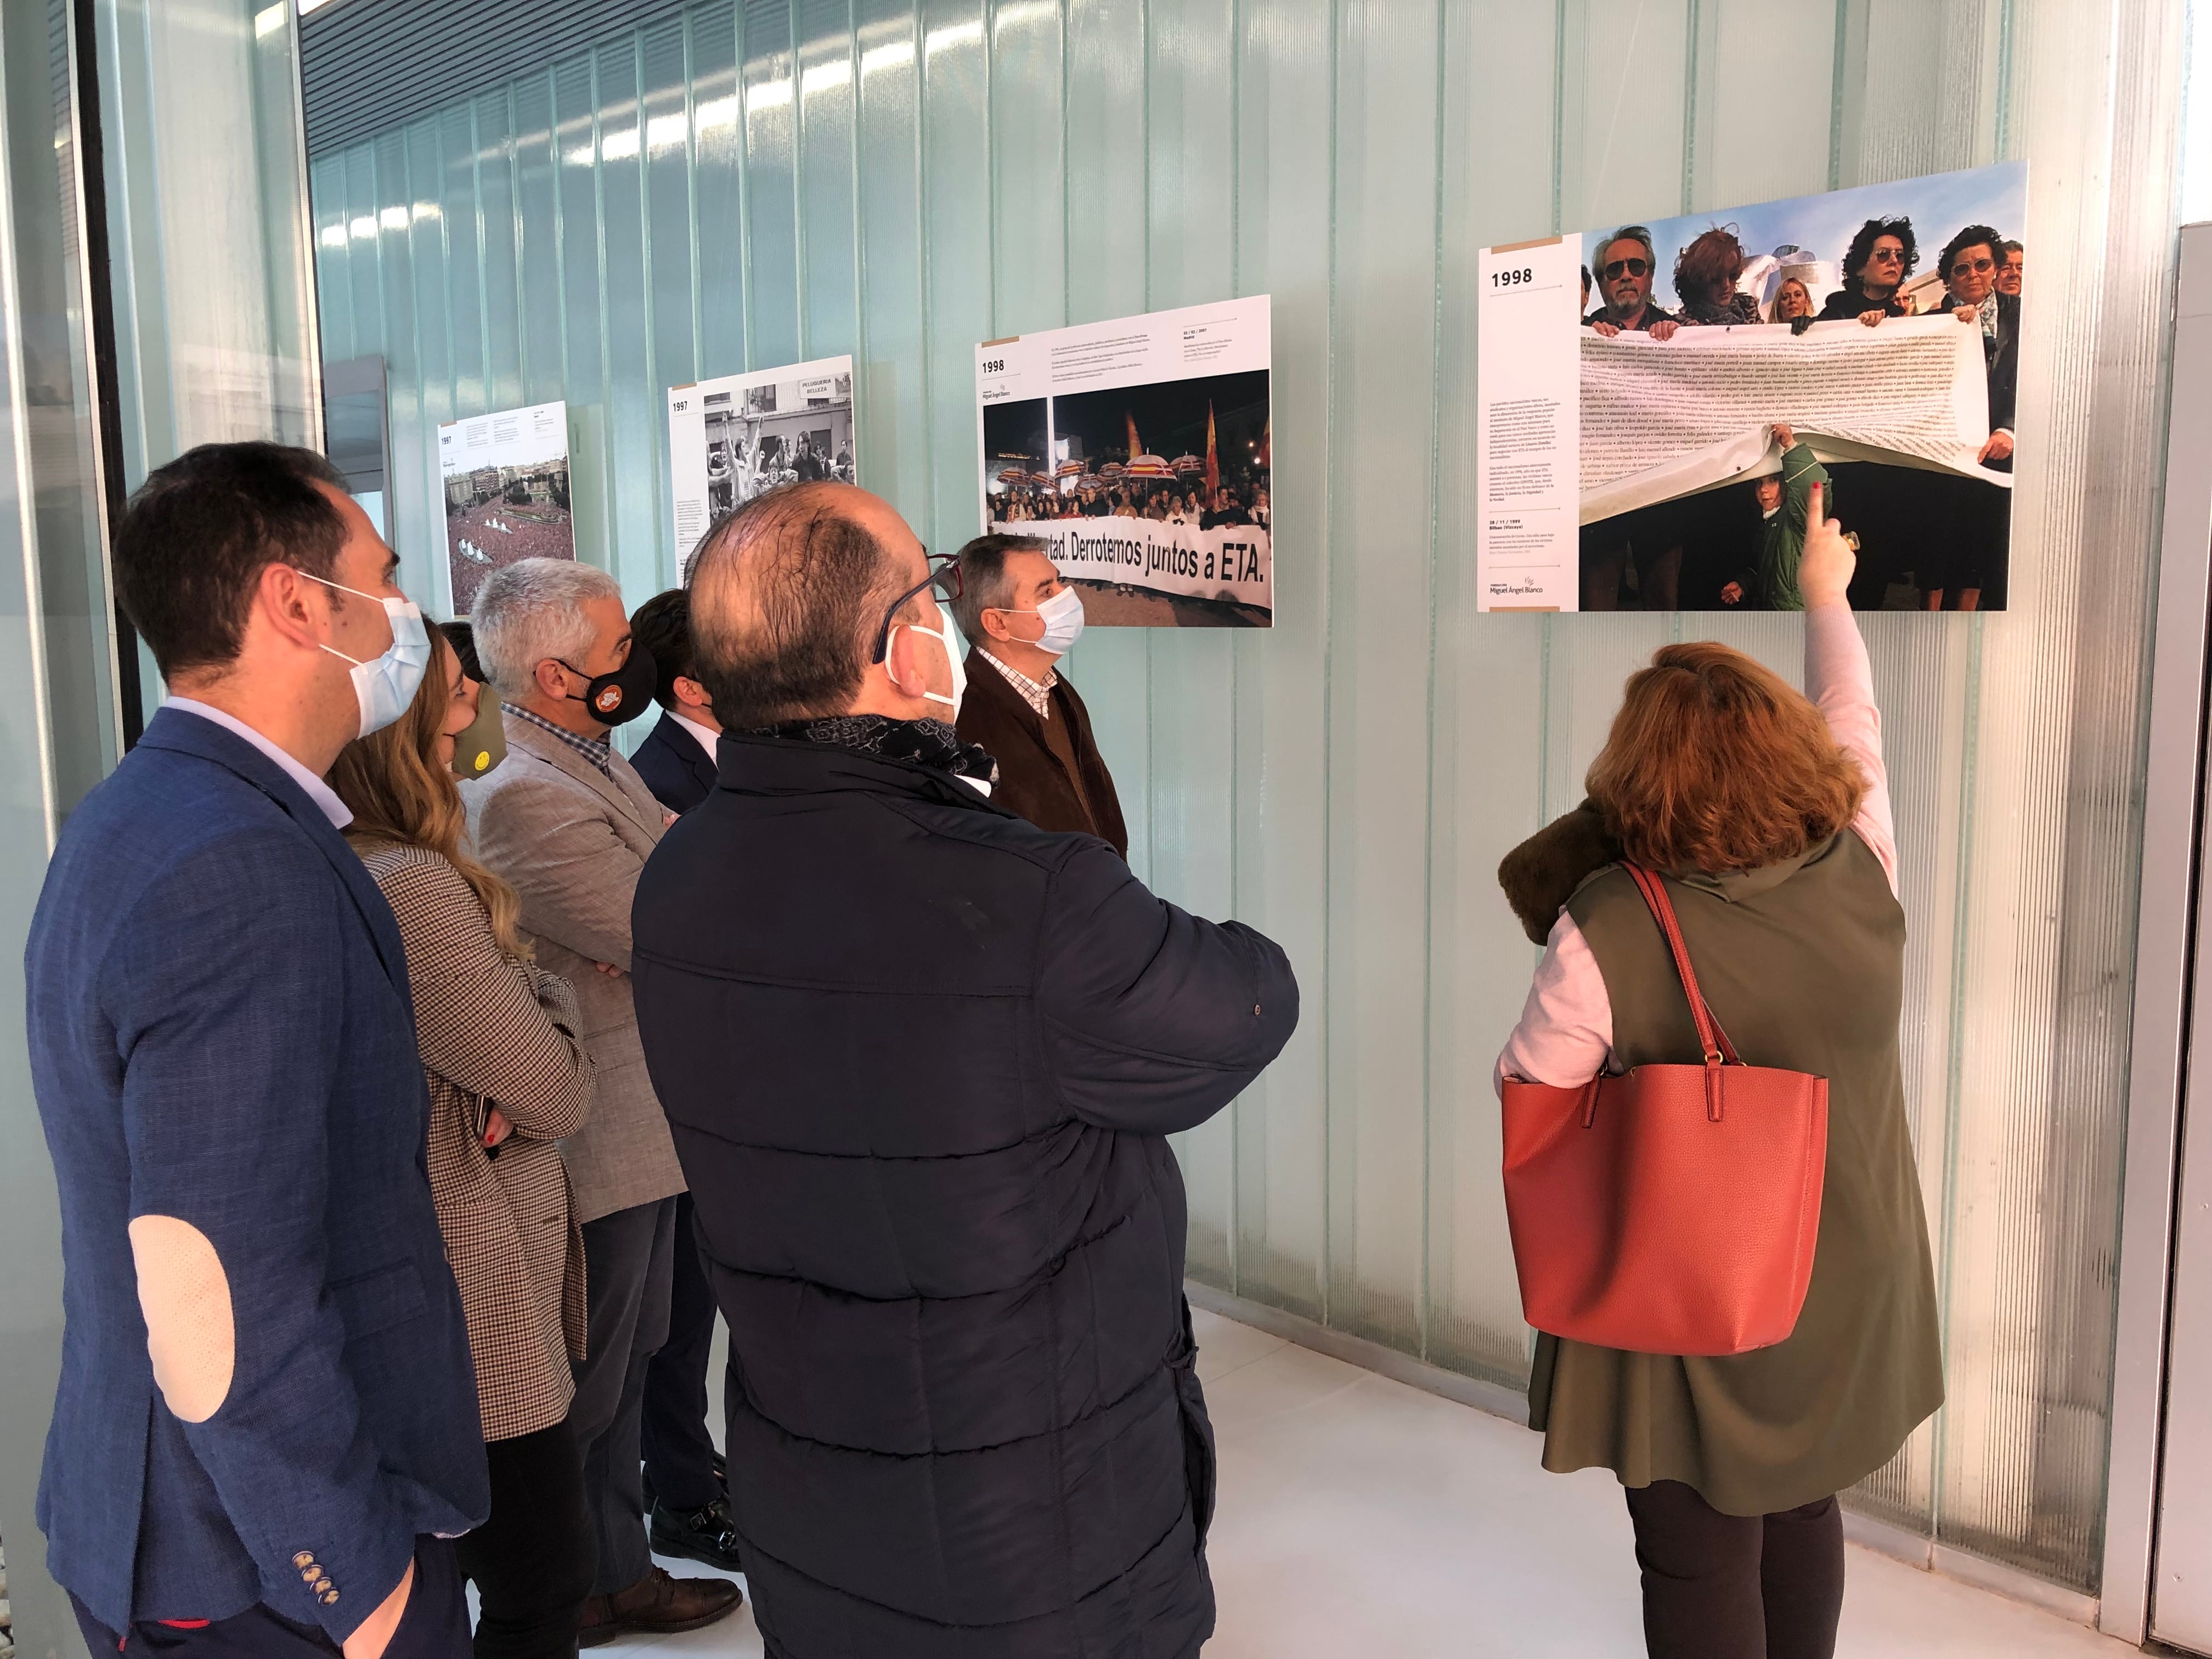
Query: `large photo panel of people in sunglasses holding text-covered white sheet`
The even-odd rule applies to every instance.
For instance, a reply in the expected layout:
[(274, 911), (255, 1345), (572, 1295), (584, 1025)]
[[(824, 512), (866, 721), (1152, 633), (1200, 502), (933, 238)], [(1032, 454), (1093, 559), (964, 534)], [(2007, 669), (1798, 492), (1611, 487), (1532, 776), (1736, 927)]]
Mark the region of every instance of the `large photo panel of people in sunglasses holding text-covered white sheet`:
[(2015, 161), (1484, 250), (1540, 338), (1484, 341), (1489, 604), (1803, 608), (1818, 487), (1856, 608), (2004, 608), (2024, 217)]

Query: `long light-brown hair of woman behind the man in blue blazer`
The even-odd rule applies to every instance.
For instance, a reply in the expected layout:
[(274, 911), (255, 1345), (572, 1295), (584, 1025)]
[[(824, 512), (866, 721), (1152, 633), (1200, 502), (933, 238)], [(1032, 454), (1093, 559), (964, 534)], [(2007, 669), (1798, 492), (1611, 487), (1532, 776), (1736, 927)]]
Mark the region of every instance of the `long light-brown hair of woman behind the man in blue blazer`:
[[(380, 732), (356, 737), (338, 750), (330, 768), (330, 787), (354, 814), (345, 827), (349, 843), (427, 847), (445, 858), (482, 900), (491, 938), (507, 956), (522, 962), (531, 956), (518, 929), (522, 900), (462, 845), (469, 814), (460, 805), (453, 772), (438, 759), (438, 728), (453, 706), (447, 681), (458, 659), (442, 630), (431, 628), (429, 637), (431, 666), (407, 712)], [(489, 697), (491, 690), (484, 688), (482, 695)]]

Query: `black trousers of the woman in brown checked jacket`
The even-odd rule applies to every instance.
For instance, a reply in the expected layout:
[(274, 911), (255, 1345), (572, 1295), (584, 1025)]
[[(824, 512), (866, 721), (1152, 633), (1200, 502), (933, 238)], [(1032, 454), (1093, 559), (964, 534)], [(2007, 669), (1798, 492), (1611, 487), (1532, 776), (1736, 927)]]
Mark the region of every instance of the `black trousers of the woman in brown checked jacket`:
[(460, 1540), (476, 1582), (476, 1659), (573, 1659), (575, 1626), (599, 1566), (575, 1429), (493, 1440), (491, 1517)]

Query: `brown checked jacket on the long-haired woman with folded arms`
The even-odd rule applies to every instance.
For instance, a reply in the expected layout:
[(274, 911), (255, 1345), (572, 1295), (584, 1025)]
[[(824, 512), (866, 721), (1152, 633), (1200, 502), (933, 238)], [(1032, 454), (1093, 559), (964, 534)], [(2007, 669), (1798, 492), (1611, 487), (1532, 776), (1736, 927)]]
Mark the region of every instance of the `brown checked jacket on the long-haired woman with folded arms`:
[[(476, 891), (427, 847), (363, 843), (407, 947), (429, 1073), (429, 1190), (460, 1285), (484, 1440), (568, 1413), (584, 1356), (584, 1237), (557, 1141), (593, 1104), (575, 989), (504, 956)], [(484, 1108), (513, 1124), (491, 1157)]]

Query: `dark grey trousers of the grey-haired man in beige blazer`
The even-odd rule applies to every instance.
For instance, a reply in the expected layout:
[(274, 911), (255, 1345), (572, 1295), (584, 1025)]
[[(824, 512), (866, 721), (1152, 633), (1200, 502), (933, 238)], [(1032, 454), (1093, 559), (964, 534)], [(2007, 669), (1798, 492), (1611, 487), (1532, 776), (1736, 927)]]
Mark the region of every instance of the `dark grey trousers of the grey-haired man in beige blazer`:
[(637, 1425), (646, 1367), (668, 1340), (675, 1199), (635, 1203), (584, 1223), (584, 1358), (568, 1427), (584, 1458), (584, 1502), (599, 1544), (593, 1595), (628, 1590), (653, 1571)]

